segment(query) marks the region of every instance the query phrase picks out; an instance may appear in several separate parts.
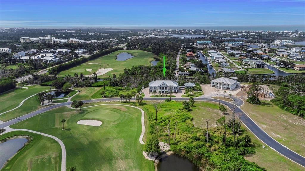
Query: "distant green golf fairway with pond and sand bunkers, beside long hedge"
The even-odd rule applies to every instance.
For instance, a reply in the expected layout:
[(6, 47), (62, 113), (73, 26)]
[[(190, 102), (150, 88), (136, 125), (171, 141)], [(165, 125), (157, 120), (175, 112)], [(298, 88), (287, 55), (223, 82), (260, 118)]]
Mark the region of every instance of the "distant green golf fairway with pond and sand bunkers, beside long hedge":
[[(130, 58), (127, 59), (126, 61), (117, 61), (116, 57), (117, 54), (119, 53), (129, 53), (132, 56), (134, 56), (134, 58)], [(107, 77), (109, 75), (113, 75), (116, 74), (117, 76), (120, 73), (124, 72), (125, 68), (131, 68), (132, 66), (137, 66), (137, 65), (151, 65), (151, 61), (154, 61), (154, 58), (159, 58), (156, 55), (154, 55), (153, 53), (150, 52), (146, 52), (146, 51), (139, 51), (139, 50), (120, 50), (120, 51), (115, 51), (112, 52), (108, 55), (105, 55), (101, 58), (97, 58), (95, 60), (91, 60), (88, 61), (84, 64), (88, 64), (88, 65), (78, 65), (76, 67), (70, 68), (66, 71), (60, 72), (58, 74), (58, 76), (60, 77), (64, 77), (65, 75), (73, 75), (74, 73), (77, 73), (78, 75), (80, 73), (83, 73), (84, 75), (90, 75), (93, 74), (93, 72), (96, 72), (98, 68), (100, 68), (99, 64), (90, 64), (90, 63), (100, 63), (102, 66), (105, 64), (105, 66), (107, 64), (109, 64), (109, 66), (107, 66), (107, 68), (112, 68), (112, 71), (107, 72), (106, 74), (104, 74), (103, 76)], [(92, 69), (91, 72), (86, 71), (86, 69)]]

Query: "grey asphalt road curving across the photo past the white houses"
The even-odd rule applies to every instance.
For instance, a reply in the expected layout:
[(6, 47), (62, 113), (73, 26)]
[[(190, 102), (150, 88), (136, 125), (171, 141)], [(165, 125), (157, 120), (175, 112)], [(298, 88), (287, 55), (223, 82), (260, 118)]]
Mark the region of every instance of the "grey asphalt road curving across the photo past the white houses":
[[(134, 99), (134, 98), (132, 98)], [(169, 98), (143, 98), (143, 100), (165, 100)], [(172, 100), (188, 100), (189, 98), (171, 98)], [(105, 99), (92, 99), (92, 100), (83, 100), (84, 103), (90, 103), (90, 102), (102, 102), (102, 101), (111, 101), (111, 100), (120, 100), (120, 98), (105, 98)], [(199, 100), (199, 101), (212, 101), (218, 103), (218, 99), (211, 99), (211, 98), (194, 98), (194, 100)], [(220, 100), (220, 103), (223, 105), (228, 106), (231, 110), (237, 106), (241, 106), (243, 104), (243, 101), (239, 98), (234, 98), (234, 104)], [(39, 110), (36, 110), (34, 112), (28, 113), (26, 115), (23, 115), (21, 117), (17, 117), (15, 119), (9, 120), (7, 122), (4, 122), (0, 124), (0, 129), (10, 126), (12, 124), (15, 124), (17, 122), (20, 122), (22, 120), (28, 119), (30, 117), (36, 116), (40, 113), (43, 113), (45, 111), (61, 107), (61, 106), (66, 106), (70, 105), (71, 102), (66, 102), (66, 103), (59, 103), (55, 104), (52, 106), (48, 106)], [(246, 125), (246, 127), (262, 142), (264, 142), (266, 145), (268, 145), (270, 148), (275, 150), (276, 152), (284, 155), (288, 159), (292, 160), (293, 162), (296, 162), (297, 164), (305, 167), (305, 158), (296, 152), (293, 152), (286, 146), (280, 144), (278, 141), (274, 140), (271, 136), (269, 136), (265, 131), (263, 131), (246, 113), (244, 113), (239, 107), (235, 107), (235, 113), (237, 116), (239, 116), (240, 120)]]

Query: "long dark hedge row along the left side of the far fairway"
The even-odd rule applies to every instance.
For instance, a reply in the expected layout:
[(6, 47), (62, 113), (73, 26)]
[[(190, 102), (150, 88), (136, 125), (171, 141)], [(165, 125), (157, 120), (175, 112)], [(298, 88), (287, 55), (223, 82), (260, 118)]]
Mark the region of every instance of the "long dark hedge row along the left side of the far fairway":
[(58, 66), (50, 68), (49, 69), (49, 74), (59, 73), (59, 72), (64, 71), (66, 69), (70, 69), (70, 68), (73, 68), (73, 67), (75, 67), (77, 65), (85, 63), (85, 62), (87, 62), (89, 60), (92, 60), (92, 59), (95, 59), (95, 58), (99, 58), (101, 56), (104, 56), (106, 54), (110, 54), (110, 53), (112, 53), (114, 51), (118, 51), (118, 50), (123, 50), (123, 48), (107, 49), (107, 50), (104, 50), (104, 51), (100, 51), (100, 52), (98, 52), (96, 54), (92, 54), (91, 56), (89, 56), (87, 58), (80, 58), (80, 59), (76, 59), (76, 60), (67, 62), (65, 64), (60, 64)]

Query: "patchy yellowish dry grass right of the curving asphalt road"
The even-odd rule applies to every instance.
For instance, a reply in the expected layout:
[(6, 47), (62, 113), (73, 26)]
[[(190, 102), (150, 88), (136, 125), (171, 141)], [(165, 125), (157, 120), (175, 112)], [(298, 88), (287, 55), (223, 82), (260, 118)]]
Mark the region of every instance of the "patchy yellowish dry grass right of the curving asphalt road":
[(241, 109), (272, 138), (305, 156), (304, 119), (281, 110), (270, 101), (262, 101), (262, 105), (245, 103)]

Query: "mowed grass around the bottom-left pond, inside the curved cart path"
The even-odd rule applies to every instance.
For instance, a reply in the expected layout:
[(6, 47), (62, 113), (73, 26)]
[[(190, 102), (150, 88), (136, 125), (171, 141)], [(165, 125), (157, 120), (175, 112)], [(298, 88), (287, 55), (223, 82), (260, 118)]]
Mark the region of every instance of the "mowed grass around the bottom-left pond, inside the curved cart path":
[(13, 131), (0, 136), (5, 139), (14, 135), (28, 135), (32, 141), (9, 160), (2, 171), (61, 170), (61, 148), (57, 141), (27, 131)]

